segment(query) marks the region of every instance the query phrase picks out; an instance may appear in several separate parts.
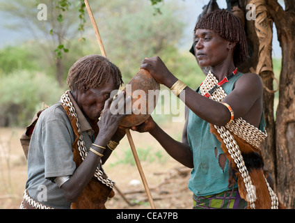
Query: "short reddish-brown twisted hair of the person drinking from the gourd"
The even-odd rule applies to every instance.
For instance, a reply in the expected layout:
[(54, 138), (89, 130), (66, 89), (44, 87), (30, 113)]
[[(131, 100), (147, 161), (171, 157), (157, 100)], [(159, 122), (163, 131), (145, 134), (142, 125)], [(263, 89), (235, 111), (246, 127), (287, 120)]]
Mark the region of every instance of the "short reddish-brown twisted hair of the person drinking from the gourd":
[(122, 75), (117, 66), (100, 55), (83, 56), (70, 68), (67, 86), (71, 91), (96, 89), (113, 79), (115, 86), (122, 86)]

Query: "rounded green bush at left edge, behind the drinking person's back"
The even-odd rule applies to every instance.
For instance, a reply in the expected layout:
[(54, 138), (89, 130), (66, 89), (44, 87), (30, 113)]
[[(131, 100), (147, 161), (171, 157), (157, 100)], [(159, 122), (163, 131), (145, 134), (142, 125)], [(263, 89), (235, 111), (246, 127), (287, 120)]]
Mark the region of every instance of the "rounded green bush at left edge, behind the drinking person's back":
[(58, 102), (62, 92), (54, 78), (40, 72), (17, 70), (1, 77), (1, 125), (28, 125), (43, 102), (53, 105)]

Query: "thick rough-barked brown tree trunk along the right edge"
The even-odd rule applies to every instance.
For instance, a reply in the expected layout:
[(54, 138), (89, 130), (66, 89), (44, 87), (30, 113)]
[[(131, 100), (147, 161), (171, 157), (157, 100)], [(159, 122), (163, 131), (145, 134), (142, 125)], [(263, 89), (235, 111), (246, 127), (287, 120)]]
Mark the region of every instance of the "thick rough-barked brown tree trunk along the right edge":
[(285, 10), (266, 0), (282, 48), (280, 96), (276, 118), (276, 185), (280, 201), (295, 208), (295, 6), (285, 0)]

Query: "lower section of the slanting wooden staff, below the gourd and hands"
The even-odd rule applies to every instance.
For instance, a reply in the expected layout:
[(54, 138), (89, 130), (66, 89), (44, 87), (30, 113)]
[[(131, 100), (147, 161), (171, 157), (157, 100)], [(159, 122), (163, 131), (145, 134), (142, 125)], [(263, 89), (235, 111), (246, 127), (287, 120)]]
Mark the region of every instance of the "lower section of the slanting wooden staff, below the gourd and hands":
[(129, 128), (127, 128), (127, 129), (125, 129), (125, 131), (126, 131), (126, 134), (127, 134), (129, 144), (131, 146), (131, 151), (133, 153), (137, 169), (139, 171), (139, 174), (141, 175), (141, 180), (143, 180), (143, 186), (145, 187), (145, 192), (148, 195), (148, 200), (150, 201), (150, 206), (152, 207), (152, 209), (155, 209), (154, 201), (152, 200), (152, 194), (150, 193), (150, 188), (148, 187), (148, 182), (145, 179), (145, 174), (143, 173), (143, 168), (141, 167), (141, 162), (139, 161), (138, 155), (136, 153), (136, 148), (134, 146), (134, 141), (133, 141), (133, 139), (131, 137), (130, 130), (129, 130)]

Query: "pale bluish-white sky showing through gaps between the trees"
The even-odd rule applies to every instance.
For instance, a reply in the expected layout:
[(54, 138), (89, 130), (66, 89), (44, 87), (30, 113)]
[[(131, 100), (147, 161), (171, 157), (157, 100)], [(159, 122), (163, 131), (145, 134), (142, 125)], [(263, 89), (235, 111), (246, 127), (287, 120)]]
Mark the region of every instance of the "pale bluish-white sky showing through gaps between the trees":
[[(0, 0), (4, 1), (4, 0)], [(13, 1), (13, 0), (11, 0)], [(148, 0), (145, 0), (148, 1)], [(169, 1), (169, 0), (164, 0)], [(191, 38), (192, 38), (192, 31), (198, 19), (198, 15), (202, 12), (202, 7), (209, 2), (209, 0), (179, 0), (180, 5), (183, 4), (184, 10), (184, 23), (187, 24), (184, 38), (181, 42), (180, 48), (181, 49), (189, 49), (191, 47)], [(226, 1), (225, 0), (217, 0), (219, 8), (226, 8)], [(0, 11), (0, 48), (5, 47), (7, 45), (16, 45), (18, 43), (22, 43), (24, 40), (30, 39), (29, 33), (24, 33), (20, 31), (14, 31), (11, 29), (6, 28), (6, 24), (10, 24), (13, 22), (13, 18), (6, 17)], [(280, 58), (281, 57), (281, 49), (278, 43), (278, 39), (276, 36), (276, 27), (273, 26), (273, 57)]]

